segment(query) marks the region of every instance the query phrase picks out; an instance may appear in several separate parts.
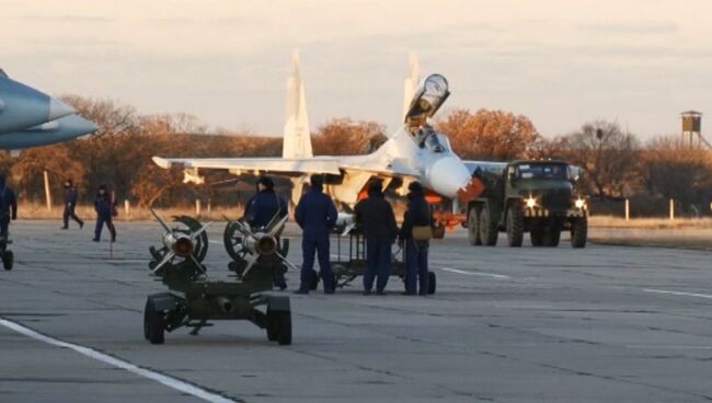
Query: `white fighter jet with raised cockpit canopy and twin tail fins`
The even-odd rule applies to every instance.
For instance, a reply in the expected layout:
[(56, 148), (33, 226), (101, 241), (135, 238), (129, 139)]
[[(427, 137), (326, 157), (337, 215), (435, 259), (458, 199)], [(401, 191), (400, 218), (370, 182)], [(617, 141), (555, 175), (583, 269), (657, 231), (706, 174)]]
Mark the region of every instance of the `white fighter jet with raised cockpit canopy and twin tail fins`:
[[(416, 88), (417, 62), (411, 57), (411, 71), (404, 93), (411, 96), (404, 104), (403, 125), (375, 152), (366, 156), (313, 156), (299, 56), (292, 56), (292, 69), (287, 80), (287, 116), (284, 128), (282, 158), (202, 158), (176, 159), (153, 157), (163, 168), (182, 166), (185, 182), (203, 183), (202, 169), (228, 170), (236, 175), (272, 173), (291, 177), (291, 199), (296, 204), (302, 185), (311, 174), (325, 174), (324, 191), (334, 202), (351, 208), (365, 195), (368, 182), (379, 179), (384, 187), (404, 195), (407, 185), (417, 181), (429, 196), (468, 199), (482, 192), (482, 183), (452, 152), (448, 137), (438, 133), (429, 119), (450, 94), (447, 79), (427, 76)], [(344, 139), (348, 141), (348, 139)], [(469, 164), (486, 166), (485, 162)]]

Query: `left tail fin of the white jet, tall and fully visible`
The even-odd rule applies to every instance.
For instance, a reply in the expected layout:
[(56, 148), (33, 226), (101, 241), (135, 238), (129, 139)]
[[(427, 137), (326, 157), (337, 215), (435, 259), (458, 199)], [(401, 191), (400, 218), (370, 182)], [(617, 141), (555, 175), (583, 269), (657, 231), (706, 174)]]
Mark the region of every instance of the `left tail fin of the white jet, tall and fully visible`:
[(282, 157), (313, 157), (305, 85), (299, 71), (299, 53), (297, 50), (291, 55), (291, 72), (287, 79), (287, 105)]

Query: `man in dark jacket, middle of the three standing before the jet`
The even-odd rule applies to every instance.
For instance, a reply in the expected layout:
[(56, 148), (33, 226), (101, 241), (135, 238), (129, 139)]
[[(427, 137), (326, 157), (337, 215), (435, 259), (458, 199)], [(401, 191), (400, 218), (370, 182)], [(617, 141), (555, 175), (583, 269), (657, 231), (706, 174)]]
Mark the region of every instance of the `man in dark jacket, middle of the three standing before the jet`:
[(391, 275), (391, 245), (398, 237), (398, 226), (393, 209), (383, 197), (380, 181), (368, 184), (368, 197), (356, 204), (355, 214), (366, 238), (368, 264), (364, 273), (364, 295), (371, 293), (374, 278), (378, 275), (376, 293), (382, 296)]

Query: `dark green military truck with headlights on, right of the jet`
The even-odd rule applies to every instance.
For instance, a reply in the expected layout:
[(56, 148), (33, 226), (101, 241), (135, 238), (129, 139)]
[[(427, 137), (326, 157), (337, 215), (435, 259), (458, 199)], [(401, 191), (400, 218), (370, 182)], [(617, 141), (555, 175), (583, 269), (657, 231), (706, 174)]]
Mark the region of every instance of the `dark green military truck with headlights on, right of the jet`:
[(585, 247), (587, 200), (576, 189), (578, 168), (563, 161), (513, 161), (475, 171), (484, 192), (469, 202), (470, 244), (494, 246), (499, 231), (509, 246), (521, 246), (529, 232), (533, 246), (558, 246), (561, 231), (571, 231), (573, 247)]

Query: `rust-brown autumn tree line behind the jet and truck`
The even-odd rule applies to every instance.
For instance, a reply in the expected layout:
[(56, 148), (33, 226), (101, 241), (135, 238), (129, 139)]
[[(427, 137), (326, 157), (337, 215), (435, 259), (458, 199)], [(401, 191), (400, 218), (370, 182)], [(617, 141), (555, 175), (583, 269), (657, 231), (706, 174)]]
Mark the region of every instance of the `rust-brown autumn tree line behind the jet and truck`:
[[(21, 199), (44, 199), (43, 172), (50, 176), (51, 193), (71, 179), (91, 203), (95, 189), (108, 184), (117, 199), (148, 207), (181, 206), (196, 198), (216, 205), (244, 202), (254, 180), (234, 181), (227, 172), (205, 171), (206, 184), (183, 183), (180, 169), (162, 170), (153, 156), (278, 157), (282, 138), (249, 130), (211, 130), (190, 114), (142, 115), (130, 105), (108, 100), (65, 96), (83, 116), (96, 123), (97, 134), (69, 142), (24, 150), (19, 157), (0, 157)], [(596, 120), (571, 133), (544, 138), (526, 116), (505, 111), (451, 110), (436, 120), (463, 159), (509, 161), (563, 159), (584, 169), (581, 186), (594, 198), (616, 200), (674, 198), (688, 214), (707, 211), (712, 200), (712, 170), (708, 150), (691, 148), (678, 136), (642, 141), (616, 122)], [(333, 118), (312, 134), (314, 154), (364, 154), (386, 141), (386, 127), (376, 122)], [(223, 184), (223, 185), (219, 185)], [(283, 182), (283, 184), (285, 184)]]

